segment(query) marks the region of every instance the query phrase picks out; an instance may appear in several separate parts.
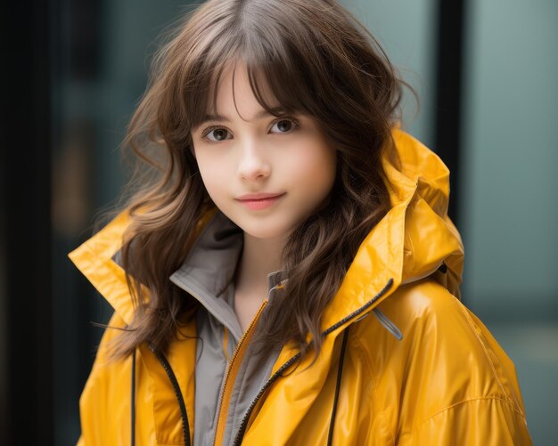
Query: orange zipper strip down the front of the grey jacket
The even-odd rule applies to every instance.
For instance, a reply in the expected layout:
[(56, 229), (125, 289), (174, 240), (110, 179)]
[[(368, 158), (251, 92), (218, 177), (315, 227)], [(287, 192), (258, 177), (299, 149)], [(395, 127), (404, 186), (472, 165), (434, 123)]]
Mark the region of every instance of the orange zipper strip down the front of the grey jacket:
[(228, 407), (231, 402), (231, 395), (233, 393), (234, 388), (234, 381), (236, 380), (236, 375), (238, 374), (238, 370), (240, 369), (240, 365), (242, 363), (242, 357), (244, 353), (246, 353), (246, 348), (250, 345), (250, 339), (252, 337), (254, 328), (256, 327), (256, 323), (258, 322), (259, 315), (266, 307), (267, 300), (261, 304), (259, 307), (256, 316), (250, 322), (250, 326), (242, 335), (241, 340), (239, 341), (238, 345), (236, 345), (236, 349), (234, 349), (233, 359), (231, 360), (228, 369), (226, 369), (226, 377), (225, 383), (223, 385), (223, 391), (221, 392), (220, 404), (218, 409), (218, 418), (217, 418), (217, 429), (215, 431), (215, 440), (213, 442), (214, 446), (221, 445), (223, 443), (223, 437), (225, 435), (225, 427), (226, 427), (226, 418), (228, 417)]

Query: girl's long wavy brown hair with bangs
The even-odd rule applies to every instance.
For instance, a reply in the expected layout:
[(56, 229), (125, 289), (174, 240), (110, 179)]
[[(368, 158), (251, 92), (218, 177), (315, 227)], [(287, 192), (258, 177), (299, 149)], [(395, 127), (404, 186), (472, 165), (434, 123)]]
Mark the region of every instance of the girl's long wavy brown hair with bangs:
[(229, 61), (245, 63), (262, 108), (272, 112), (278, 102), (310, 115), (337, 150), (331, 199), (284, 247), (284, 304), (271, 305), (258, 323), (259, 345), (291, 340), (307, 349), (309, 333), (317, 355), (324, 308), (390, 208), (381, 158), (398, 164), (390, 130), (404, 83), (373, 36), (333, 0), (209, 0), (155, 54), (124, 141), (139, 163), (132, 184), (141, 186), (127, 201), (131, 223), (121, 249), (135, 319), (117, 337), (117, 357), (145, 341), (164, 352), (196, 308), (168, 277), (215, 209), (193, 158), (191, 129), (215, 112)]

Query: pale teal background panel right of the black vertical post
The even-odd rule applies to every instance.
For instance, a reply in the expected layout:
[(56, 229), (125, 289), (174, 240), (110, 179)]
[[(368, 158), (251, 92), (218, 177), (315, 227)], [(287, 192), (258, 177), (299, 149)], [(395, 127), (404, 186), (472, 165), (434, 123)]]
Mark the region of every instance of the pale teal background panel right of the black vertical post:
[[(558, 2), (472, 2), (464, 114), (470, 302), (558, 310)], [(557, 347), (558, 348), (558, 347)]]

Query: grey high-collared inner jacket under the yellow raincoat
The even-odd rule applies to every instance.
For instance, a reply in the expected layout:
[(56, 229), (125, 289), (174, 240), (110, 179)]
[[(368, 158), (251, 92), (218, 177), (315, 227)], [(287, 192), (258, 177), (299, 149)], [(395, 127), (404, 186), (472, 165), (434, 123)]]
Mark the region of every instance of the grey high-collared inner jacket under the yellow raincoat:
[[(234, 312), (234, 272), (242, 253), (242, 230), (221, 212), (196, 239), (184, 264), (170, 276), (178, 287), (201, 303), (196, 314), (198, 342), (195, 368), (193, 444), (213, 444), (219, 398), (226, 367), (242, 337)], [(267, 276), (267, 311), (282, 293), (283, 272)], [(225, 348), (225, 330), (228, 341)], [(270, 377), (279, 351), (256, 354), (248, 346), (234, 382), (223, 444), (234, 442), (250, 403)]]

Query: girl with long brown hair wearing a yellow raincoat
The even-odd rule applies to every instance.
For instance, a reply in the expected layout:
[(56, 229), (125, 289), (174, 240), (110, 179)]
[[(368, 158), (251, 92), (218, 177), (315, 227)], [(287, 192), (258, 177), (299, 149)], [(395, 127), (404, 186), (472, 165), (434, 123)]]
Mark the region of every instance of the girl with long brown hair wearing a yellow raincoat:
[(126, 141), (157, 175), (70, 254), (115, 310), (80, 444), (530, 444), (400, 95), (333, 0), (176, 29)]

